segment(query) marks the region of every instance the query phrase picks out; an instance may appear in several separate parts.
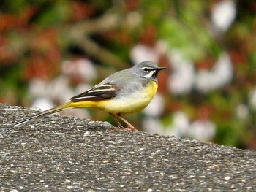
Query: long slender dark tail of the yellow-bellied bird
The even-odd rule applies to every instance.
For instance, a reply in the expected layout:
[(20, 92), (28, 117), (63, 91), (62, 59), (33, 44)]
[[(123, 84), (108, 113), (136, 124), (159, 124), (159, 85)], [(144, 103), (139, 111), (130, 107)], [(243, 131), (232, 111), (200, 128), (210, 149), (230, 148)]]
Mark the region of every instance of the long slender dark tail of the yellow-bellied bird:
[(53, 114), (53, 113), (56, 113), (56, 112), (60, 112), (60, 111), (63, 111), (63, 110), (67, 110), (67, 109), (71, 109), (71, 108), (72, 107), (70, 106), (70, 102), (67, 103), (67, 104), (62, 104), (59, 107), (54, 107), (54, 108), (52, 108), (50, 110), (39, 112), (37, 115), (34, 115), (34, 116), (30, 117), (30, 118), (26, 118), (26, 119), (20, 120), (17, 123), (15, 123), (14, 126), (20, 126), (20, 125), (22, 125), (24, 123), (28, 123), (31, 120), (36, 120), (37, 118), (42, 118), (45, 115), (50, 115), (50, 114)]

